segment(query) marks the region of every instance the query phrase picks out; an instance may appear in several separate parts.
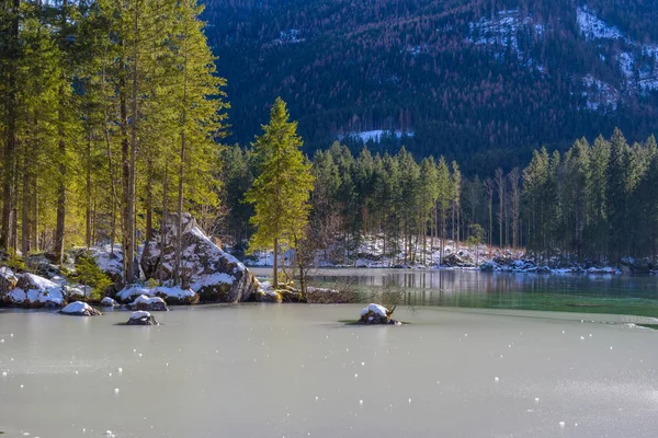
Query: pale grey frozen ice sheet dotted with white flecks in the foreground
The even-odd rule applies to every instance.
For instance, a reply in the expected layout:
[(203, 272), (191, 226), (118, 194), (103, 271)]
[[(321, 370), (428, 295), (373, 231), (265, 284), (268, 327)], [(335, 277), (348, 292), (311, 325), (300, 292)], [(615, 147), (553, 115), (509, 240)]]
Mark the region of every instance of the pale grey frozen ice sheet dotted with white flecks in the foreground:
[[(616, 315), (207, 306), (121, 326), (0, 310), (7, 437), (656, 437), (658, 331)], [(30, 434), (30, 435), (25, 435)]]

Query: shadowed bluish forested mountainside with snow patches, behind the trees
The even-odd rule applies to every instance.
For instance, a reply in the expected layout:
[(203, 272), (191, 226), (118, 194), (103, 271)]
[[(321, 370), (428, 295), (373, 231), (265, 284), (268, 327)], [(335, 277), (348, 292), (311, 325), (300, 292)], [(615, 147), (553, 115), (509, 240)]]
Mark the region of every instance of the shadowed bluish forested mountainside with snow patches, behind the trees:
[[(281, 95), (305, 149), (392, 130), (373, 149), (444, 154), (467, 173), (537, 146), (658, 131), (658, 5), (629, 0), (205, 0), (248, 145)], [(344, 136), (348, 135), (348, 138)], [(367, 137), (365, 137), (367, 139)]]

